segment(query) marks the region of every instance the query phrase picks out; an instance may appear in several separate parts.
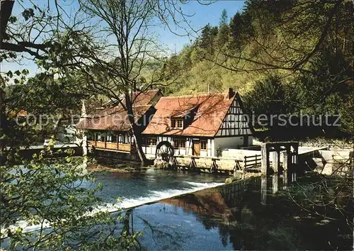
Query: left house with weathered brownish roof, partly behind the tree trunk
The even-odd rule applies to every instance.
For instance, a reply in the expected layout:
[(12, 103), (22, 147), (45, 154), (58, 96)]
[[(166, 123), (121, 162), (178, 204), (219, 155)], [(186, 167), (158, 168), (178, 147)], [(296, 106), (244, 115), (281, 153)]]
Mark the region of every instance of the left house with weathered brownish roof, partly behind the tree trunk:
[[(133, 94), (134, 121), (141, 132), (156, 111), (154, 105), (161, 96), (159, 90)], [(84, 142), (89, 148), (128, 154), (135, 152), (129, 117), (120, 104), (108, 103), (84, 114), (76, 129), (84, 132)]]

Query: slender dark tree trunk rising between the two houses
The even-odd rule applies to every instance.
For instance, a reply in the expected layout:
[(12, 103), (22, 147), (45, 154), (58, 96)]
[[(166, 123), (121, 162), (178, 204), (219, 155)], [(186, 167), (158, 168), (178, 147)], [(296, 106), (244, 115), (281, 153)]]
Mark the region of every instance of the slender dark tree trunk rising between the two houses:
[(132, 102), (129, 94), (125, 94), (125, 106), (127, 108), (127, 116), (130, 122), (130, 128), (132, 129), (132, 136), (134, 138), (135, 148), (137, 150), (137, 154), (139, 155), (139, 159), (143, 164), (147, 164), (147, 157), (142, 150), (142, 133), (135, 125), (134, 113), (132, 110)]

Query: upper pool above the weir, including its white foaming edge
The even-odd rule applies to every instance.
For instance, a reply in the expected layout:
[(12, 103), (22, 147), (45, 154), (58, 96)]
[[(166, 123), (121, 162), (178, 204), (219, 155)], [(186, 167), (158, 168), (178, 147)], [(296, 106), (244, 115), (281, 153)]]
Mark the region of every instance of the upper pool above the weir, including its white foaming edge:
[[(142, 169), (139, 172), (98, 172), (96, 181), (103, 184), (97, 195), (118, 208), (144, 203), (224, 184), (226, 175)], [(120, 203), (117, 203), (120, 199)]]

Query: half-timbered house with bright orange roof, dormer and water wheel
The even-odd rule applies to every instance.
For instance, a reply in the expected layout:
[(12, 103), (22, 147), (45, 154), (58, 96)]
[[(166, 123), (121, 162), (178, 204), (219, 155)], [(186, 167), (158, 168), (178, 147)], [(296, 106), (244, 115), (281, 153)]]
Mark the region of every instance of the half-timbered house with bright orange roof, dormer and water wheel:
[(239, 94), (164, 96), (143, 131), (143, 150), (155, 157), (161, 145), (173, 155), (216, 157), (226, 148), (252, 145), (253, 128)]

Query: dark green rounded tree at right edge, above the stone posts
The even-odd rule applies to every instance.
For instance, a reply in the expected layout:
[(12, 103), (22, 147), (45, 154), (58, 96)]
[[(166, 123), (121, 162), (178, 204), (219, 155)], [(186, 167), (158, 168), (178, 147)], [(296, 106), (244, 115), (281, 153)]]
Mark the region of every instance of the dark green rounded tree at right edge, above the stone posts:
[(311, 62), (309, 69), (316, 74), (304, 72), (295, 79), (299, 110), (310, 114), (338, 113), (343, 101), (354, 94), (353, 85), (346, 83), (353, 74), (349, 63), (343, 55), (324, 52)]

